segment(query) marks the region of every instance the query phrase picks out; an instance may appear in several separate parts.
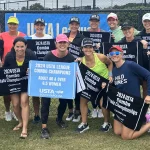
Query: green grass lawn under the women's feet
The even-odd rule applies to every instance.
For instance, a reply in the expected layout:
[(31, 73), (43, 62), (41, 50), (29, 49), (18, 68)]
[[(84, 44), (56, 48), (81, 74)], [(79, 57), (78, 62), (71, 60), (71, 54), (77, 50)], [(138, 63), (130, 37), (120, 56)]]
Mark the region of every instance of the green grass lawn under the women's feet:
[[(60, 129), (55, 124), (56, 107), (50, 114), (48, 128), (51, 133), (49, 140), (40, 139), (41, 124), (32, 124), (33, 109), (31, 107), (29, 136), (27, 139), (19, 139), (21, 131), (12, 131), (17, 124), (15, 120), (4, 120), (4, 105), (0, 98), (0, 150), (149, 150), (150, 134), (146, 133), (137, 140), (123, 141), (114, 135), (111, 130), (108, 133), (99, 131), (103, 119), (88, 118), (90, 130), (83, 134), (77, 134), (75, 129), (78, 123), (68, 122), (67, 129)], [(51, 108), (55, 102), (52, 102)], [(32, 104), (31, 104), (32, 106)], [(112, 121), (112, 120), (111, 120)]]

